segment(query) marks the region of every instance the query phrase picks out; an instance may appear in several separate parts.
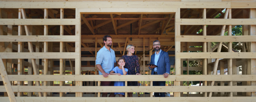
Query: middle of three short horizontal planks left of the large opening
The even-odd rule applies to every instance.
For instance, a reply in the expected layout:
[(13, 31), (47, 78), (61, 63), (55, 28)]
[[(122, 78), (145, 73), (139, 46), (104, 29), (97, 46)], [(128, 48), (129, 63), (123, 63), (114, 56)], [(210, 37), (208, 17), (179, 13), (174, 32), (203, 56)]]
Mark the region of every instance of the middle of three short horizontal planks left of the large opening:
[(79, 36), (1, 36), (1, 42), (60, 42), (60, 41), (77, 41)]

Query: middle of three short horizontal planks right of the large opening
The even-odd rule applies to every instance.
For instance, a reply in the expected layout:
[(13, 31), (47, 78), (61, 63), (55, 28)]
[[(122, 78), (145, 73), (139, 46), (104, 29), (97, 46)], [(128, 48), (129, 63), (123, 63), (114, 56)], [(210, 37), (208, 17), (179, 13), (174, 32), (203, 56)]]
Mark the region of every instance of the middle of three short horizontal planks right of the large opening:
[(256, 36), (177, 36), (181, 42), (251, 42)]

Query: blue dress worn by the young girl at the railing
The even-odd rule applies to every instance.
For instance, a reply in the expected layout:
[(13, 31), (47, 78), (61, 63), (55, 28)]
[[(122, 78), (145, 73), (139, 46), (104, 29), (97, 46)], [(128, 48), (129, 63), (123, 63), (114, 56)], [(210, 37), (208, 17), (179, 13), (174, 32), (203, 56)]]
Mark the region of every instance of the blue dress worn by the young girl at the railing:
[[(113, 71), (114, 71), (115, 73), (120, 73), (121, 75), (123, 75), (122, 69), (119, 69), (118, 66), (116, 66), (116, 67), (113, 69)], [(125, 68), (125, 72), (128, 72), (128, 69)], [(128, 73), (127, 73), (127, 74), (128, 74)], [(125, 82), (124, 82), (124, 81), (115, 81), (115, 82), (114, 82), (114, 86), (125, 86)], [(122, 95), (125, 95), (124, 92), (119, 92), (119, 93), (115, 92), (115, 94), (122, 94)]]

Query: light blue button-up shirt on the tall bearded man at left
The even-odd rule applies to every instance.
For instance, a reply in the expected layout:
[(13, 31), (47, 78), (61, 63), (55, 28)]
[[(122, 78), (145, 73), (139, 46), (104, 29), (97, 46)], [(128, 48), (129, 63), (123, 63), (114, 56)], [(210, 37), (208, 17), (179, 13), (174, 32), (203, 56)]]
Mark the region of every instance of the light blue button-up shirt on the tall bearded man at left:
[[(115, 51), (111, 48), (110, 50), (111, 51), (109, 51), (105, 46), (102, 47), (97, 52), (95, 61), (96, 65), (100, 64), (102, 69), (108, 74), (114, 69), (114, 63), (116, 62)], [(102, 72), (99, 71), (99, 74), (102, 75)]]

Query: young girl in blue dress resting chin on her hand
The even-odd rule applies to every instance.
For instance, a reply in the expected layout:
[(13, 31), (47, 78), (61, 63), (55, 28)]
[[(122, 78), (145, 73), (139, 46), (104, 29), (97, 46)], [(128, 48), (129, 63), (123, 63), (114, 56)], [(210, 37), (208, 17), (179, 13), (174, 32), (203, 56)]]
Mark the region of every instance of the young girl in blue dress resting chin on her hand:
[[(128, 72), (128, 69), (124, 68), (125, 66), (125, 59), (124, 58), (119, 58), (118, 62), (119, 67), (116, 66), (109, 74), (111, 75), (126, 75)], [(114, 86), (125, 86), (124, 81), (115, 81)], [(118, 94), (119, 97), (124, 97), (125, 93), (115, 93), (115, 95)]]

